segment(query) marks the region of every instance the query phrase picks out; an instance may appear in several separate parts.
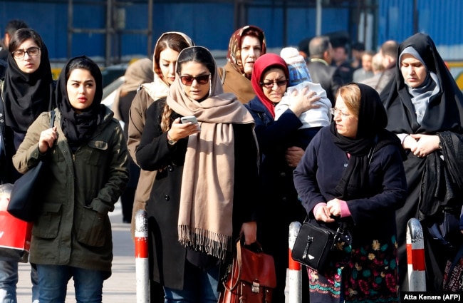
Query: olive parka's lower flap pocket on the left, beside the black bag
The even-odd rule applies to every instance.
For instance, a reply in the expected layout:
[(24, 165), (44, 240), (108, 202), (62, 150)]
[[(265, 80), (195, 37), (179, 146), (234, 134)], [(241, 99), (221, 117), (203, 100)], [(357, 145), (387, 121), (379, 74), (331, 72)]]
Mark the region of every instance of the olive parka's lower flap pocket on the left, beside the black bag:
[(61, 204), (45, 203), (41, 215), (33, 224), (32, 235), (43, 239), (54, 239), (58, 236), (61, 224)]

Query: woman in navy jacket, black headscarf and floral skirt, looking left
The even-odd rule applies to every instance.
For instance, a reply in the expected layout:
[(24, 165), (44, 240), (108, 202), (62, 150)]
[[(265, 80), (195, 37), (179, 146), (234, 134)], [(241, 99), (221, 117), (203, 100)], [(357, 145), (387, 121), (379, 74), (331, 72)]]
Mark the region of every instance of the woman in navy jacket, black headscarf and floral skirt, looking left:
[(338, 91), (334, 118), (311, 140), (294, 170), (309, 220), (345, 222), (350, 245), (324, 272), (308, 270), (310, 302), (399, 302), (395, 210), (405, 202), (400, 142), (385, 130), (378, 93), (364, 84)]

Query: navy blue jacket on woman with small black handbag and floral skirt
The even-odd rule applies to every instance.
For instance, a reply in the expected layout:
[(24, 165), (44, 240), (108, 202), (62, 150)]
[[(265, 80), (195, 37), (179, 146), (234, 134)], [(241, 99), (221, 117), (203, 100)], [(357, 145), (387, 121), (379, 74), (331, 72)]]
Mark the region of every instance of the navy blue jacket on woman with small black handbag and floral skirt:
[[(335, 197), (347, 164), (348, 156), (331, 140), (329, 127), (322, 128), (294, 170), (294, 185), (309, 217), (313, 218), (313, 207), (319, 202)], [(399, 148), (385, 145), (375, 150), (369, 169), (369, 192), (363, 198), (346, 201), (354, 223), (349, 230), (358, 245), (396, 235), (395, 210), (404, 205), (407, 195)]]

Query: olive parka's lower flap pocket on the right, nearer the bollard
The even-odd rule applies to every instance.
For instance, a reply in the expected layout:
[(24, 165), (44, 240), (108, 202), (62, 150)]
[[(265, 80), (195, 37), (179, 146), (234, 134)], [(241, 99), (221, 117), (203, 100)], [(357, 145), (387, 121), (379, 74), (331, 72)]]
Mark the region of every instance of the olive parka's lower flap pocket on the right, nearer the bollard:
[(76, 220), (77, 241), (83, 245), (103, 247), (110, 230), (108, 215), (100, 214), (88, 207), (80, 207), (79, 212)]

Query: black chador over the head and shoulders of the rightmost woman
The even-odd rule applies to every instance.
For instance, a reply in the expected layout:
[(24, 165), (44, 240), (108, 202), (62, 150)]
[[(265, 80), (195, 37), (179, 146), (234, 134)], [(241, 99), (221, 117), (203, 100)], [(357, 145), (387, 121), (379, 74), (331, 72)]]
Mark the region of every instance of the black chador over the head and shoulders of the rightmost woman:
[[(441, 86), (440, 92), (430, 98), (421, 125), (417, 123), (412, 96), (408, 93), (398, 60), (400, 53), (408, 46), (412, 46), (420, 54), (427, 69), (437, 75)], [(395, 64), (395, 79), (392, 82), (392, 90), (385, 100), (385, 108), (389, 117), (387, 129), (392, 133), (434, 134), (444, 130), (462, 133), (463, 94), (437, 52), (430, 36), (419, 33), (400, 43)]]

